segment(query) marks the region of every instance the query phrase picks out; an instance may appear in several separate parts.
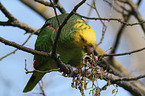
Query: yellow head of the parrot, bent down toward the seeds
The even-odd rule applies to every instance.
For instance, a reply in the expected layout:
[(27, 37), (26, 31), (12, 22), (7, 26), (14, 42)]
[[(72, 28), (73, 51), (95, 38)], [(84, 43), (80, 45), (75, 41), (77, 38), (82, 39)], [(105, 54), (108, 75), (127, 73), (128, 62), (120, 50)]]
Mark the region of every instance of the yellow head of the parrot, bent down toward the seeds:
[(90, 54), (93, 51), (93, 48), (96, 44), (96, 34), (94, 30), (86, 24), (83, 20), (78, 20), (79, 23), (75, 24), (74, 30), (74, 43), (81, 47), (85, 52)]

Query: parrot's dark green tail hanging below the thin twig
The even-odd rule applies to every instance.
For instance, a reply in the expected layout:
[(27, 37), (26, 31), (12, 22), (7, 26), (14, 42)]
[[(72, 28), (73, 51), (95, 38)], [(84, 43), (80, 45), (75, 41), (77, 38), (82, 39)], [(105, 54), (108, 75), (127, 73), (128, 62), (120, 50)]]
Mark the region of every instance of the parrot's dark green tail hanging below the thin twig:
[(27, 85), (25, 86), (23, 92), (26, 93), (26, 92), (31, 91), (36, 86), (36, 84), (42, 79), (44, 75), (45, 73), (34, 71), (33, 75), (31, 76)]

